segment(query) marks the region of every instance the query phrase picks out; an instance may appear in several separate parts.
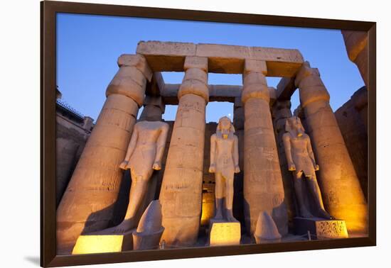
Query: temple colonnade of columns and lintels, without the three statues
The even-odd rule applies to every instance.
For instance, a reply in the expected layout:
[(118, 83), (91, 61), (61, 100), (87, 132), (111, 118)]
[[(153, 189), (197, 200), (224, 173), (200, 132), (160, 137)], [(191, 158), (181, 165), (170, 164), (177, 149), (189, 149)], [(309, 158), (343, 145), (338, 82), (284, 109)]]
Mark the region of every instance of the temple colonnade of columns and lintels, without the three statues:
[[(166, 104), (178, 105), (176, 120), (167, 122), (160, 170), (146, 182), (134, 217), (137, 223), (149, 203), (159, 199), (163, 247), (207, 245), (202, 237), (215, 208), (215, 179), (208, 167), (210, 136), (216, 124), (205, 124), (205, 106), (210, 101), (234, 104), (241, 172), (235, 174), (233, 214), (242, 227), (241, 243), (261, 239), (259, 226), (284, 241), (299, 224), (294, 176), (283, 141), (296, 90), (300, 106), (295, 116), (311, 139), (320, 167), (316, 177), (324, 208), (338, 224), (346, 223), (349, 235), (366, 235), (364, 179), (359, 179), (343, 135), (351, 131), (341, 133), (338, 123), (343, 120), (331, 109), (319, 70), (304, 61), (299, 50), (148, 41), (138, 44), (136, 54), (121, 55), (118, 65), (58, 206), (58, 254), (72, 252), (82, 235), (121, 223), (130, 178), (119, 166), (127, 154), (139, 108), (144, 106), (139, 121), (162, 121)], [(161, 72), (185, 75), (181, 84), (166, 84)], [(243, 84), (208, 84), (209, 72), (242, 74)], [(267, 86), (266, 77), (282, 77), (277, 89)], [(259, 218), (262, 223), (257, 223)], [(316, 228), (316, 219), (310, 225)]]

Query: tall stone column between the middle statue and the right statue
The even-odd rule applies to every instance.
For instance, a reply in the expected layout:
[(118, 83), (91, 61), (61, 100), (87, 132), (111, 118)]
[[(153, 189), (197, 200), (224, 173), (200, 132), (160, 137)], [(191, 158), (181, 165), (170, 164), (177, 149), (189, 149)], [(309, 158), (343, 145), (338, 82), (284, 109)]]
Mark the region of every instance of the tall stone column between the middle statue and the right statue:
[(266, 62), (246, 60), (242, 102), (245, 104), (245, 221), (253, 234), (260, 212), (269, 213), (281, 235), (288, 232), (284, 186), (269, 106)]

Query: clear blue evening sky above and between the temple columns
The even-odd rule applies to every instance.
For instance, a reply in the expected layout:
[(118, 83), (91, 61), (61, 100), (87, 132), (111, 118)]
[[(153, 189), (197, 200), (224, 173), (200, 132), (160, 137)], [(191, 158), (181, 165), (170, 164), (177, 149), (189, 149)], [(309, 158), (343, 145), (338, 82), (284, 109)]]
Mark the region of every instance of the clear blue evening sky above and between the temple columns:
[[(348, 60), (339, 30), (252, 26), (235, 23), (174, 21), (59, 13), (57, 15), (57, 84), (63, 100), (95, 120), (105, 102), (105, 90), (118, 70), (117, 58), (136, 52), (140, 40), (217, 43), (272, 48), (296, 48), (319, 69), (335, 111), (364, 85)], [(166, 83), (181, 83), (183, 73), (165, 72)], [(269, 86), (279, 78), (267, 77)], [(242, 84), (240, 74), (209, 74), (209, 84)], [(292, 111), (299, 105), (292, 96)], [(210, 102), (206, 121), (232, 118), (233, 105)], [(166, 106), (165, 120), (174, 120), (176, 106)]]

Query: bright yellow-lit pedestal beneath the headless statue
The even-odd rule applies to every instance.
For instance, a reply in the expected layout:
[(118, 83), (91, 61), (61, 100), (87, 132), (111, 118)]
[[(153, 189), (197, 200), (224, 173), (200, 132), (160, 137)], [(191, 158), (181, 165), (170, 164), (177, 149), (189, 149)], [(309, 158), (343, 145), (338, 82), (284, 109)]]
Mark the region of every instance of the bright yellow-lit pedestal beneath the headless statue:
[(110, 234), (104, 231), (80, 235), (73, 247), (72, 255), (133, 250), (132, 233), (136, 229), (122, 234)]

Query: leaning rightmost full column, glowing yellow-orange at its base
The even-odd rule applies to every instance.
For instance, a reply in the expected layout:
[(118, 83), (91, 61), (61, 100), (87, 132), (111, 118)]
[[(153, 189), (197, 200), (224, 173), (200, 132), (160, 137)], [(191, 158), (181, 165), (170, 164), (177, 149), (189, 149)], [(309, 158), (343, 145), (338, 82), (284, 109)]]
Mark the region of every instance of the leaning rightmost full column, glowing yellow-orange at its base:
[(367, 204), (318, 69), (304, 62), (295, 83), (299, 86), (306, 131), (311, 136), (320, 167), (318, 182), (326, 211), (337, 219), (346, 220), (350, 234), (366, 233)]

